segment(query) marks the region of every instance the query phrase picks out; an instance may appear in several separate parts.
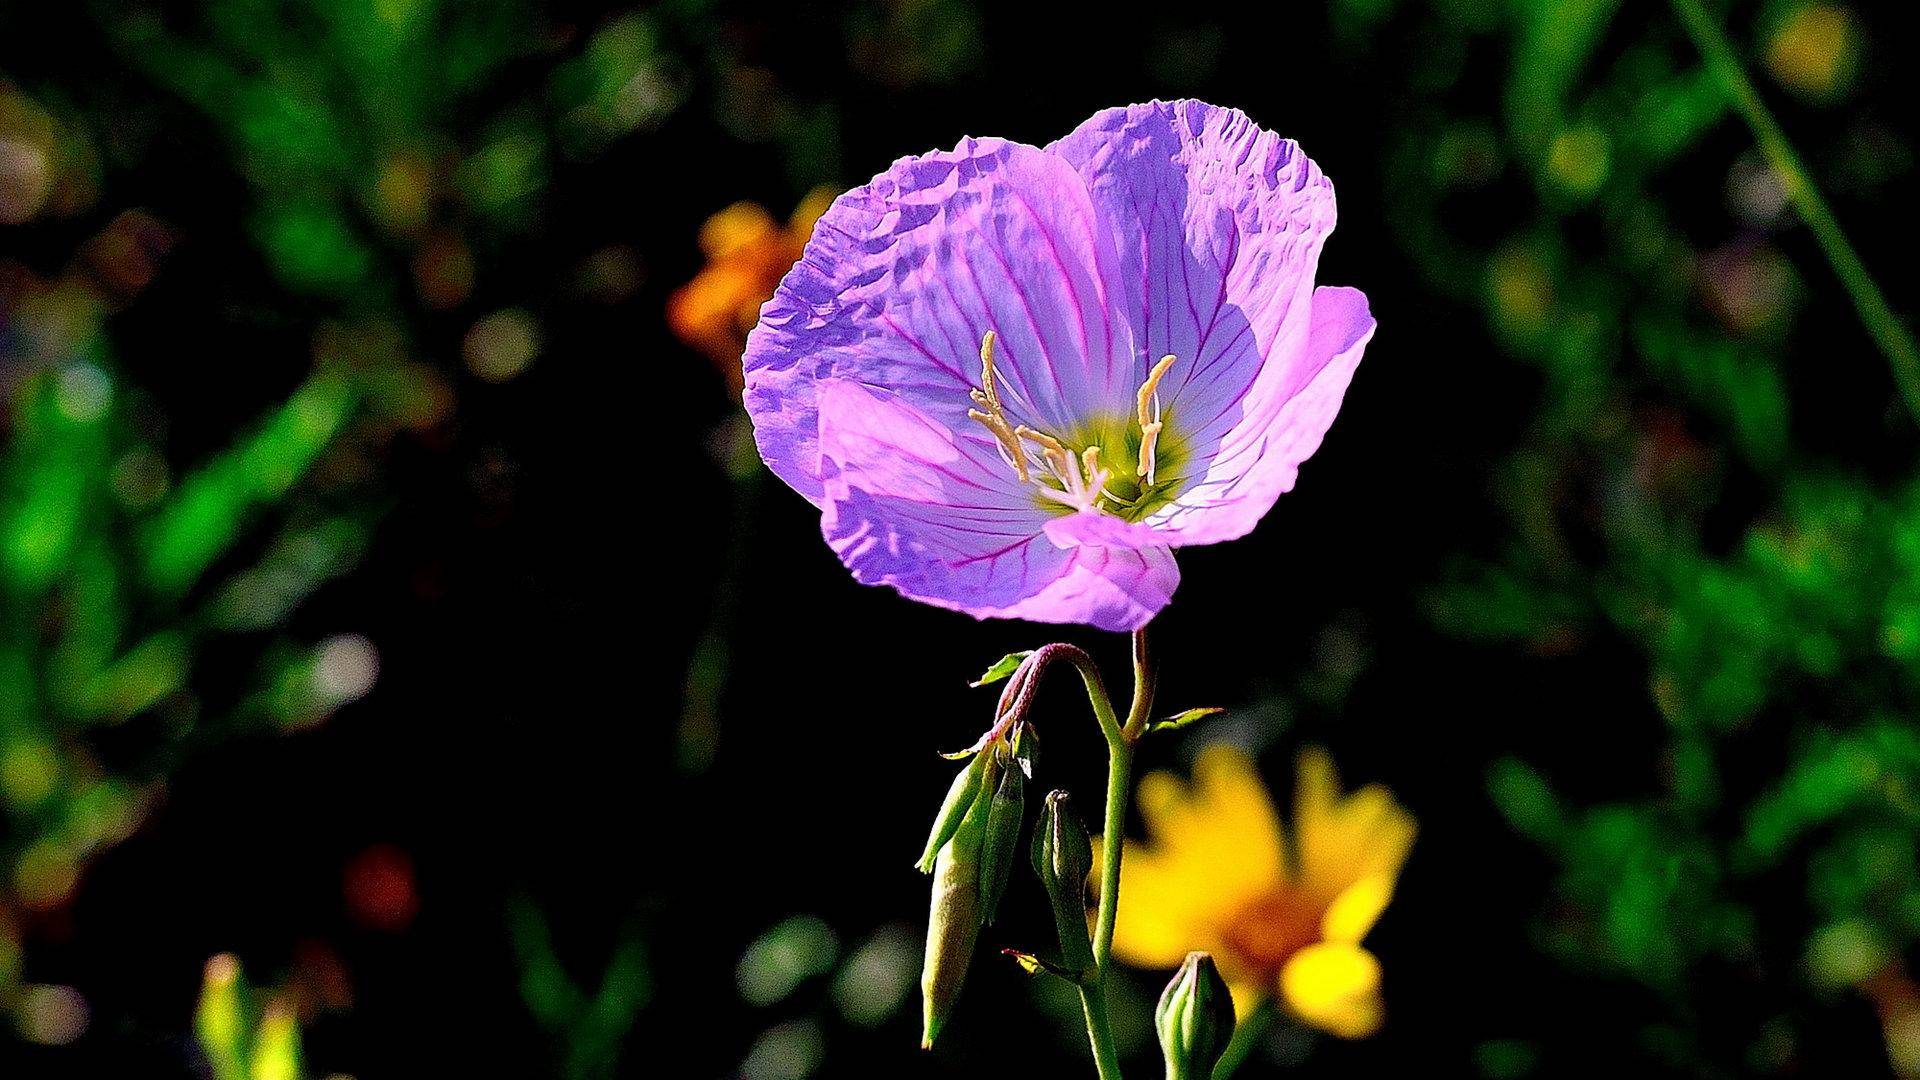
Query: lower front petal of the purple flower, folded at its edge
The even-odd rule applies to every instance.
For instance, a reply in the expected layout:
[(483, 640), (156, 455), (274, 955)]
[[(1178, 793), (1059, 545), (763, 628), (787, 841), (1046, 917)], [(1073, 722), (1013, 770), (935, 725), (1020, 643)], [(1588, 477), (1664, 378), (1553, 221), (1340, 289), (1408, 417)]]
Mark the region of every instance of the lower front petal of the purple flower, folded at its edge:
[(822, 534), (854, 578), (973, 617), (1146, 625), (1179, 584), (1165, 548), (1064, 550), (991, 452), (906, 396), (820, 384)]

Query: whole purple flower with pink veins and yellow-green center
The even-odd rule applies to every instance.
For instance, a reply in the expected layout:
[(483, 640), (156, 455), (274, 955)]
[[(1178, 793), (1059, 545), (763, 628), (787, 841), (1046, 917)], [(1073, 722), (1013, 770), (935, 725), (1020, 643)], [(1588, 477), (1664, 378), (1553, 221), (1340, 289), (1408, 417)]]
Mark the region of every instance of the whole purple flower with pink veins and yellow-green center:
[(768, 467), (854, 578), (1133, 630), (1173, 548), (1294, 484), (1373, 334), (1315, 288), (1332, 184), (1236, 110), (902, 158), (814, 227), (747, 338)]

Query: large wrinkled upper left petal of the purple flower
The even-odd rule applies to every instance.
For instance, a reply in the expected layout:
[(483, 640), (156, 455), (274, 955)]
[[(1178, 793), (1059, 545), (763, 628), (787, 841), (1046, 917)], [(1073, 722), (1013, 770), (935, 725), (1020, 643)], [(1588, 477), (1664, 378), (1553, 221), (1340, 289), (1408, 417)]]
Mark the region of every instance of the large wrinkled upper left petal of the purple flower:
[(998, 336), (1012, 423), (1066, 432), (1127, 407), (1135, 348), (1114, 307), (1114, 236), (1071, 165), (962, 140), (843, 194), (747, 340), (747, 413), (766, 463), (820, 503), (816, 386), (887, 386), (939, 423), (966, 419), (981, 336)]

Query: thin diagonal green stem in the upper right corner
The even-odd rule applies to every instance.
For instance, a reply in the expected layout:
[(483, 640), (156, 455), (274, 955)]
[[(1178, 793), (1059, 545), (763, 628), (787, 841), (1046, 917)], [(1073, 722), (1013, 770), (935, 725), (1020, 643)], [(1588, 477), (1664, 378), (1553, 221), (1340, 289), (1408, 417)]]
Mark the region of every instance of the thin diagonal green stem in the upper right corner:
[(1761, 144), (1761, 154), (1766, 156), (1766, 163), (1772, 165), (1782, 188), (1786, 188), (1788, 200), (1793, 204), (1793, 211), (1799, 213), (1801, 221), (1807, 223), (1807, 229), (1820, 242), (1820, 250), (1834, 267), (1834, 275), (1839, 277), (1847, 296), (1853, 298), (1853, 309), (1860, 315), (1860, 323), (1866, 325), (1866, 332), (1872, 334), (1874, 344), (1880, 346), (1887, 363), (1893, 365), (1893, 380), (1899, 384), (1901, 396), (1907, 398), (1907, 407), (1914, 413), (1914, 419), (1920, 419), (1920, 348), (1914, 346), (1912, 332), (1893, 313), (1874, 275), (1866, 273), (1866, 263), (1860, 261), (1847, 234), (1839, 229), (1839, 221), (1834, 217), (1832, 208), (1828, 208), (1826, 198), (1820, 196), (1820, 188), (1812, 184), (1807, 165), (1801, 163), (1793, 144), (1788, 142), (1780, 121), (1766, 111), (1766, 102), (1761, 100), (1759, 90), (1753, 88), (1753, 81), (1741, 69), (1740, 58), (1726, 38), (1726, 31), (1707, 13), (1701, 0), (1672, 0), (1672, 6), (1693, 38), (1693, 46), (1699, 48), (1701, 58), (1707, 61), (1707, 71), (1720, 83), (1728, 100), (1747, 121), (1747, 129), (1753, 131), (1755, 142)]

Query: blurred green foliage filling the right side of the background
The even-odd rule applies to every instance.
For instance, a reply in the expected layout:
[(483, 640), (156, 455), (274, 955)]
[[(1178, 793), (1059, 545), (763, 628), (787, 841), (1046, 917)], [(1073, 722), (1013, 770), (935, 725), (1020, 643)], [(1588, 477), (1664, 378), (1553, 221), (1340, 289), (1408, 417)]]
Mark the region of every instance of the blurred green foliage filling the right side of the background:
[[(1920, 942), (1920, 742), (1907, 719), (1920, 486), (1797, 440), (1788, 352), (1807, 290), (1837, 284), (1795, 240), (1793, 179), (1741, 150), (1726, 88), (1665, 12), (1336, 8), (1356, 48), (1394, 15), (1427, 37), (1411, 79), (1428, 94), (1392, 138), (1392, 171), (1411, 179), (1394, 188), (1392, 225), (1427, 281), (1478, 306), (1540, 373), (1534, 417), (1496, 471), (1509, 540), (1463, 559), (1430, 613), (1542, 657), (1626, 644), (1665, 728), (1655, 774), (1615, 780), (1609, 801), (1567, 796), (1521, 759), (1490, 773), (1501, 815), (1559, 865), (1544, 942), (1645, 984), (1674, 1024), (1715, 1007), (1699, 995), (1716, 965), (1776, 1001), (1859, 988), (1891, 1017), (1887, 980), (1905, 984), (1901, 955)], [(1772, 77), (1764, 90), (1801, 115), (1847, 100), (1859, 42), (1845, 8), (1736, 4), (1732, 31)], [(1488, 54), (1505, 56), (1494, 111), (1467, 71), (1467, 56)], [(1724, 188), (1701, 190), (1715, 175)], [(1891, 196), (1885, 177), (1839, 181)], [(1503, 234), (1455, 233), (1455, 208), (1484, 198), (1530, 211)], [(1828, 348), (1812, 361), (1885, 369), (1864, 332)], [(1757, 886), (1782, 874), (1799, 882), (1803, 915), (1755, 907)], [(1755, 1030), (1745, 1065), (1789, 1068), (1782, 1045), (1803, 1034)], [(1642, 1038), (1651, 1049), (1668, 1036)], [(1889, 1020), (1897, 1061), (1901, 1038)], [(1670, 1065), (1720, 1074), (1682, 1043), (1661, 1047)], [(1492, 1053), (1482, 1070), (1532, 1068), (1509, 1059)]]

